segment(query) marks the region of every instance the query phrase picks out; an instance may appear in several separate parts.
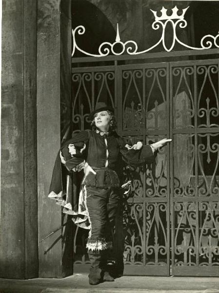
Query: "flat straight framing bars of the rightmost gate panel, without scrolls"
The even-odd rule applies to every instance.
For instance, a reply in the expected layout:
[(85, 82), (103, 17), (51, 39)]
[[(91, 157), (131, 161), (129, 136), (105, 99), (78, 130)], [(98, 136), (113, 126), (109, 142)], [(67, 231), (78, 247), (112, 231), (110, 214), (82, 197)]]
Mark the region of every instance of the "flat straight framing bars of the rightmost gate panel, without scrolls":
[[(173, 178), (175, 176), (175, 171), (174, 171), (174, 163), (173, 163), (173, 158), (174, 156), (171, 156), (171, 166), (170, 166), (170, 171), (171, 171), (171, 225), (172, 225), (172, 273), (174, 275), (203, 275), (203, 276), (219, 276), (219, 266), (200, 266), (199, 265), (199, 203), (201, 202), (218, 202), (219, 198), (217, 196), (199, 196), (199, 191), (198, 191), (198, 134), (199, 133), (219, 133), (219, 127), (203, 127), (199, 128), (198, 127), (198, 103), (197, 103), (197, 66), (199, 65), (217, 65), (219, 66), (219, 60), (218, 59), (212, 59), (212, 60), (194, 60), (194, 61), (178, 61), (178, 62), (170, 62), (170, 107), (171, 107), (171, 123), (170, 123), (170, 134), (171, 138), (174, 138), (174, 134), (194, 134), (195, 135), (195, 195), (194, 196), (176, 196), (174, 195), (174, 182)], [(173, 68), (177, 68), (179, 66), (185, 67), (185, 66), (193, 66), (194, 68), (194, 75), (193, 75), (193, 85), (194, 85), (194, 128), (178, 128), (174, 129), (173, 125)], [(218, 71), (218, 78), (219, 78), (219, 71)], [(218, 81), (219, 85), (219, 81)], [(219, 91), (218, 91), (219, 94)], [(173, 144), (171, 145), (171, 152), (173, 152), (173, 147), (174, 147), (174, 140)], [(174, 204), (175, 203), (195, 203), (195, 212), (196, 212), (196, 228), (195, 228), (195, 253), (196, 253), (196, 265), (185, 265), (185, 266), (176, 266), (175, 265), (175, 218), (174, 218)]]

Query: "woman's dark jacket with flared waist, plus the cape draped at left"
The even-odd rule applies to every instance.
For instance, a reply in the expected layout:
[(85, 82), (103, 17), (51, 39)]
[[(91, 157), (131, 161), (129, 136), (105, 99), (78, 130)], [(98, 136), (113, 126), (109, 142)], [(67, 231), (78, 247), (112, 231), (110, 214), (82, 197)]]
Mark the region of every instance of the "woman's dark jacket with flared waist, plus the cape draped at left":
[[(74, 198), (70, 199), (72, 192), (68, 187), (68, 181), (70, 177), (72, 178), (70, 174), (80, 170), (79, 166), (83, 166), (85, 161), (94, 169), (101, 168), (101, 170), (98, 170), (97, 175), (90, 172), (86, 180), (83, 180), (83, 184), (107, 188), (120, 186), (117, 175), (120, 159), (130, 166), (153, 163), (155, 160), (153, 151), (148, 145), (137, 150), (130, 149), (131, 146), (128, 146), (115, 131), (109, 132), (108, 135), (101, 134), (103, 133), (95, 130), (81, 131), (60, 148), (53, 170), (49, 197), (65, 207), (66, 213), (73, 215), (77, 213), (77, 195), (74, 194)], [(108, 161), (107, 167), (106, 161)], [(66, 209), (69, 201), (72, 212), (67, 212)]]

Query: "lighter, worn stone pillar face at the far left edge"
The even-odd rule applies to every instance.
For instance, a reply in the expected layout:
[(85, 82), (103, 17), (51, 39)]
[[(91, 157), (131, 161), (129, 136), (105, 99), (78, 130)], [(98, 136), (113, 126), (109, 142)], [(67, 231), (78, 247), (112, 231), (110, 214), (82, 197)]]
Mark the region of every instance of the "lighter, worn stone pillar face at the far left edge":
[(0, 277), (38, 277), (37, 0), (2, 1)]

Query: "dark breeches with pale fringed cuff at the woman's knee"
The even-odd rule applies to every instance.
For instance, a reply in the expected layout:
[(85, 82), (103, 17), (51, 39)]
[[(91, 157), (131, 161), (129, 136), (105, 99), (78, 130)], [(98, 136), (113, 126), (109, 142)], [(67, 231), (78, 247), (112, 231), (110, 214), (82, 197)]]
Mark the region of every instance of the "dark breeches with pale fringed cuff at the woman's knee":
[(112, 248), (111, 231), (119, 209), (118, 188), (86, 188), (86, 206), (91, 223), (87, 248), (104, 250)]

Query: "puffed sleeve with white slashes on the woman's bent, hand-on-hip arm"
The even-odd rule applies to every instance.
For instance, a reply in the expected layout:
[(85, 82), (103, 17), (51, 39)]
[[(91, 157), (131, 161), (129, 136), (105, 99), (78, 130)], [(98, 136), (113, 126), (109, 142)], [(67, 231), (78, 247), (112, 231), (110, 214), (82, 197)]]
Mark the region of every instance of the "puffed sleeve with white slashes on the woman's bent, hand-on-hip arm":
[(81, 131), (60, 148), (61, 163), (69, 171), (80, 171), (85, 164), (89, 132)]

